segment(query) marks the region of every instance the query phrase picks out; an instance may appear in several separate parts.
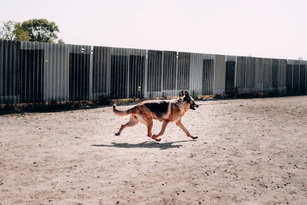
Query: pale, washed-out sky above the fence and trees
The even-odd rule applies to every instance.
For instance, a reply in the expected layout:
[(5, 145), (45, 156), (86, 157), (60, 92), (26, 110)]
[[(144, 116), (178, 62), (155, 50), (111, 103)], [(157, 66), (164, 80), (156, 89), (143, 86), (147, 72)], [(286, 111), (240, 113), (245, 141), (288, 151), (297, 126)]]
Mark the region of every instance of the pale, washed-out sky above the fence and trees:
[(47, 18), (67, 44), (307, 60), (304, 0), (0, 0), (0, 20)]

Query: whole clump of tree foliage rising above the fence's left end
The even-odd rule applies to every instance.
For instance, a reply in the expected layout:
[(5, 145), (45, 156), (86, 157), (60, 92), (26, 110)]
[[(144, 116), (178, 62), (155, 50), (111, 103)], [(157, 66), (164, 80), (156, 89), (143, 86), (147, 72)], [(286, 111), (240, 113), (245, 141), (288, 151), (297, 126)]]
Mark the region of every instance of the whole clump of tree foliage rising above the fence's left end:
[[(45, 18), (30, 19), (23, 23), (12, 20), (0, 22), (0, 40), (55, 43), (58, 33), (58, 26)], [(64, 44), (64, 41), (59, 39), (58, 43)]]

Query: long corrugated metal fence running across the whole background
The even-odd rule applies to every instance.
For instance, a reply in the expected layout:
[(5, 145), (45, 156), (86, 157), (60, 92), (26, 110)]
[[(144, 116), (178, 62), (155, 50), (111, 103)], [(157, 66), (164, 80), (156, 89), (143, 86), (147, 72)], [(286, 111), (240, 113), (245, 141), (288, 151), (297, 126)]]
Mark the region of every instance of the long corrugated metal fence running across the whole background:
[(0, 40), (0, 104), (306, 91), (307, 61)]

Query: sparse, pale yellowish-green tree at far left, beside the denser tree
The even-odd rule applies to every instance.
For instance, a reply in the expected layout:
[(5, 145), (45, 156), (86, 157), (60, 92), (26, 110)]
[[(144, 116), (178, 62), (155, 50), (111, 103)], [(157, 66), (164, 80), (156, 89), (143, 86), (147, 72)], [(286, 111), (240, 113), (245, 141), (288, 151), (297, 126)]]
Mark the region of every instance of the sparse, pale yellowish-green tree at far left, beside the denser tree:
[(21, 28), (20, 23), (9, 20), (0, 23), (0, 40), (30, 40), (29, 32)]

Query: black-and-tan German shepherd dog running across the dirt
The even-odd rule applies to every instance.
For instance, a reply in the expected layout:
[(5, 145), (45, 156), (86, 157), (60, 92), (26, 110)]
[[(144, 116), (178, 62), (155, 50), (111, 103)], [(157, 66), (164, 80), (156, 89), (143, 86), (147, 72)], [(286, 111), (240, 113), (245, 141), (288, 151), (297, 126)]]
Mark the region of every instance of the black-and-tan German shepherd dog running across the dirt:
[[(169, 122), (176, 122), (176, 125), (180, 127), (186, 133), (188, 137), (192, 139), (197, 139), (198, 137), (193, 137), (189, 131), (183, 126), (181, 118), (184, 116), (185, 112), (189, 109), (195, 110), (199, 105), (195, 104), (194, 99), (189, 95), (187, 91), (185, 93), (181, 91), (182, 97), (179, 99), (172, 100), (146, 100), (133, 108), (128, 110), (119, 110), (117, 106), (113, 105), (113, 112), (117, 116), (126, 116), (130, 114), (129, 121), (122, 125), (115, 135), (120, 135), (123, 129), (127, 127), (133, 127), (138, 124), (138, 122), (143, 123), (147, 127), (147, 136), (160, 141), (159, 138), (164, 134), (166, 126)], [(159, 134), (152, 135), (151, 129), (153, 125), (152, 119), (157, 119), (162, 121), (162, 128)]]

